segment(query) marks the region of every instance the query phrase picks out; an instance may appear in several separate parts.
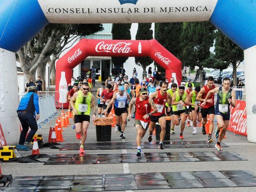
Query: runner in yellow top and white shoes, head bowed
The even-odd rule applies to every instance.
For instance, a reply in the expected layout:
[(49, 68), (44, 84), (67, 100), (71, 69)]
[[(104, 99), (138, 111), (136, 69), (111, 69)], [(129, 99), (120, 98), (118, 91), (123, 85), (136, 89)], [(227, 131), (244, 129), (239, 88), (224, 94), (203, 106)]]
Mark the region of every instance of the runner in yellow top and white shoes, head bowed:
[(192, 121), (193, 121), (193, 132), (192, 134), (197, 134), (197, 121), (202, 121), (202, 114), (200, 110), (200, 101), (195, 100), (197, 94), (201, 88), (199, 86), (196, 86), (194, 90), (189, 95), (189, 111), (192, 113)]

